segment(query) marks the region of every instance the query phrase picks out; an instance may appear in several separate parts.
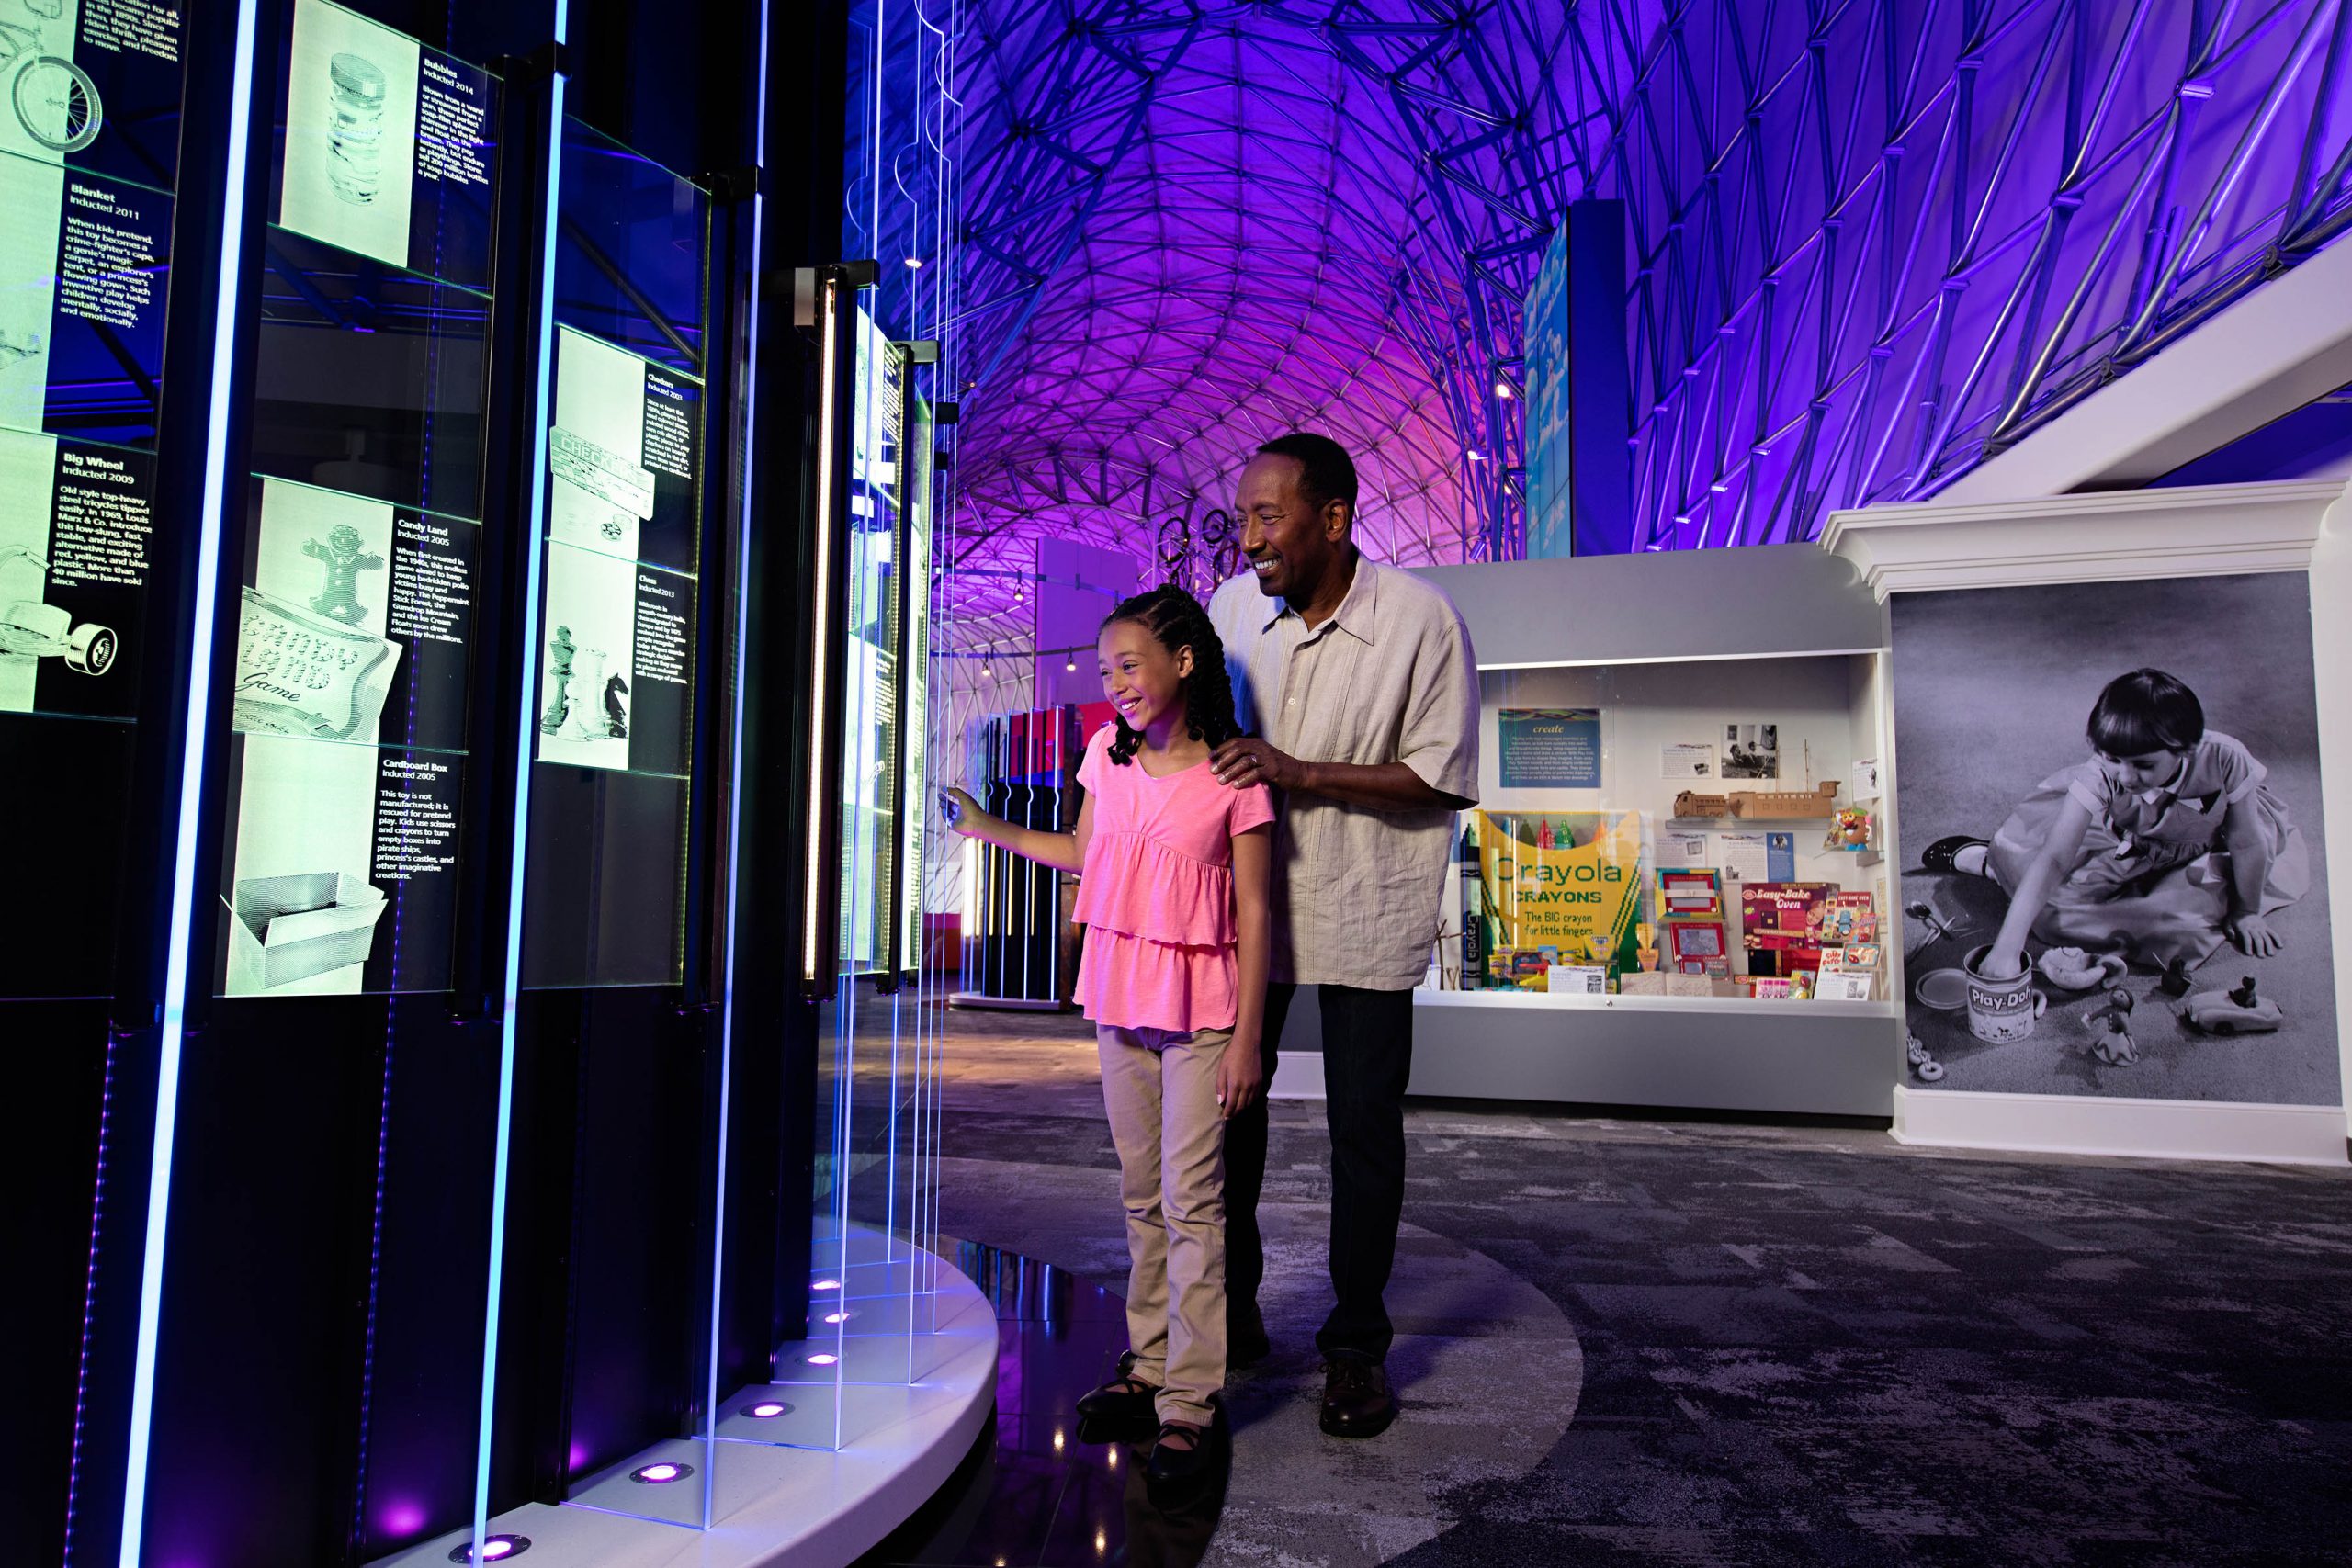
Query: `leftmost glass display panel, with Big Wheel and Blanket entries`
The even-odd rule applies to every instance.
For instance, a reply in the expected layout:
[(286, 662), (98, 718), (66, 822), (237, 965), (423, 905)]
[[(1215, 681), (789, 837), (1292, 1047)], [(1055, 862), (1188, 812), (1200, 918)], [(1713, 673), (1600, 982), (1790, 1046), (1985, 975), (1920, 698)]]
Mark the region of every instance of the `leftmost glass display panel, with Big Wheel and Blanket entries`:
[(153, 574), (181, 14), (0, 14), (0, 997), (111, 985)]

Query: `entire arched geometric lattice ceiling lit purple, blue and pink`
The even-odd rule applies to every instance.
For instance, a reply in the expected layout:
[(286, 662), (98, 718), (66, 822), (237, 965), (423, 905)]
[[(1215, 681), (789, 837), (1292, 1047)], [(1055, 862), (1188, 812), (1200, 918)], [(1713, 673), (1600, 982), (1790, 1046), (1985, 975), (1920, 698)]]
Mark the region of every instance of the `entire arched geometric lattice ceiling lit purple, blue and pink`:
[(1287, 428), (1374, 555), (1515, 555), (1583, 195), (1646, 548), (1933, 494), (2352, 223), (2352, 0), (967, 0), (955, 82), (981, 574), (1150, 555)]

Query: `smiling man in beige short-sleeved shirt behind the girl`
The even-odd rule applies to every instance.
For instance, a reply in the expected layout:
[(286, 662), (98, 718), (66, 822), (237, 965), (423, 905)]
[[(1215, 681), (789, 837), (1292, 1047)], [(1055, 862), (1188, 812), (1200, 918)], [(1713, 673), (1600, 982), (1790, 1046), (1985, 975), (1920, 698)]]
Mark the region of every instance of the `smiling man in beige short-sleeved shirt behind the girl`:
[[(1404, 1211), (1404, 1081), (1414, 985), (1430, 966), (1454, 813), (1477, 799), (1477, 661), (1454, 602), (1357, 552), (1355, 463), (1322, 435), (1284, 435), (1242, 470), (1249, 571), (1209, 618), (1235, 715), (1254, 738), (1211, 755), (1230, 785), (1265, 783), (1275, 825), (1275, 954), (1265, 1079), (1298, 985), (1322, 987), (1331, 1126), (1331, 1293), (1322, 1429), (1376, 1436), (1397, 1415), (1381, 1295)], [(1230, 1359), (1265, 1354), (1265, 1105), (1225, 1124)]]

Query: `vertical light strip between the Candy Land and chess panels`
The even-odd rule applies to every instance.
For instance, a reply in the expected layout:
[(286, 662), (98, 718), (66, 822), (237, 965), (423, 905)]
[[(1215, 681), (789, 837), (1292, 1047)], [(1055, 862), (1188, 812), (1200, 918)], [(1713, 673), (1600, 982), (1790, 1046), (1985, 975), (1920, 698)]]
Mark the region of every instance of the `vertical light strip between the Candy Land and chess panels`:
[[(555, 357), (555, 223), (564, 165), (564, 71), (562, 45), (569, 0), (555, 0), (555, 26), (548, 61), (548, 167), (546, 214), (539, 252), (539, 315), (532, 357), (532, 531), (522, 548), (522, 651), (524, 672), (515, 724), (515, 842), (508, 851), (506, 879), (506, 985), (499, 1001), (499, 1133), (489, 1166), (489, 1293), (482, 1312), (482, 1415), (473, 1446), (473, 1549), (468, 1561), (482, 1561), (482, 1537), (489, 1530), (489, 1436), (499, 1403), (499, 1302), (506, 1291), (506, 1159), (515, 1138), (515, 1013), (522, 1004), (522, 872), (532, 827), (532, 752), (539, 741), (539, 557), (548, 527), (548, 395)], [(125, 1566), (129, 1568), (129, 1566)]]

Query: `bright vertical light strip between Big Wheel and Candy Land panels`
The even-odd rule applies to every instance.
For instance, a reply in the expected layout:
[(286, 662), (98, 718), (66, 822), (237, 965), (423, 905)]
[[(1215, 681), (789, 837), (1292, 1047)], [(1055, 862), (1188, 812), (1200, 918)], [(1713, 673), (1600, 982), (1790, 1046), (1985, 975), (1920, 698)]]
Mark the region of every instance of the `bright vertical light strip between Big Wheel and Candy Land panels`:
[(221, 188), (221, 275), (212, 301), (212, 409), (205, 416), (205, 496), (195, 529), (195, 614), (188, 621), (188, 712), (181, 738), (179, 837), (172, 846), (172, 945), (165, 954), (162, 1032), (155, 1063), (155, 1150), (148, 1168), (146, 1255), (139, 1265), (139, 1342), (132, 1361), (132, 1434), (122, 1481), (122, 1568), (139, 1568), (146, 1528), (148, 1448), (155, 1436), (155, 1331), (162, 1321), (162, 1248), (172, 1225), (172, 1138), (179, 1121), (179, 1058), (188, 1027), (188, 931), (195, 924), (195, 835), (205, 806), (205, 717), (219, 618), (221, 501), (228, 491), (228, 409), (238, 355), (238, 287), (245, 254), (245, 160), (252, 150), (254, 26), (259, 0), (238, 0), (228, 80), (228, 158)]

